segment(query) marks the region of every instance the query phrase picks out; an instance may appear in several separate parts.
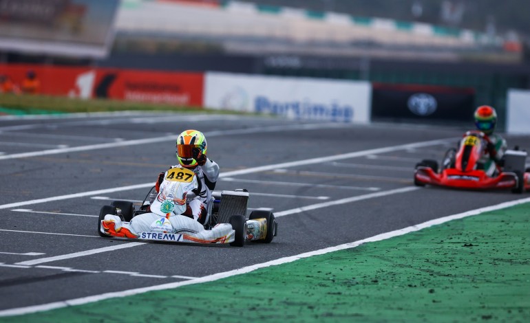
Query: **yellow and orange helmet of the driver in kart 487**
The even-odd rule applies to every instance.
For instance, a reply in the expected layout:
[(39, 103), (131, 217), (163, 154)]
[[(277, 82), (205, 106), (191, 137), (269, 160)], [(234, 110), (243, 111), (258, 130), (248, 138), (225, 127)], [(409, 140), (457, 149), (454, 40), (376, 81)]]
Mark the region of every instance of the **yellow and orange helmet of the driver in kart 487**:
[(206, 155), (206, 137), (200, 131), (182, 131), (177, 138), (177, 159), (185, 168), (195, 168), (198, 157)]

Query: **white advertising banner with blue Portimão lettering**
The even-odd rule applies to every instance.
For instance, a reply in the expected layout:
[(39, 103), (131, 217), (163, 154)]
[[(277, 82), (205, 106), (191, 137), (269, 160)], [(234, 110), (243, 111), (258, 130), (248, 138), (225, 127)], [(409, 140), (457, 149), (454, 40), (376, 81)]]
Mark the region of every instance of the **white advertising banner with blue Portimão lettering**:
[(204, 106), (291, 119), (370, 122), (370, 82), (206, 73)]

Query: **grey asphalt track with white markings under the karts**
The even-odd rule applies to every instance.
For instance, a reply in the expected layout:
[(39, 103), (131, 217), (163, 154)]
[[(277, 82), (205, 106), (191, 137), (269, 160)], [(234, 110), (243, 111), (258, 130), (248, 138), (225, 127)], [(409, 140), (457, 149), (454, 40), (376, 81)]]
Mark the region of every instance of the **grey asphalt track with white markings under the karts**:
[[(273, 243), (168, 245), (96, 234), (107, 199), (142, 200), (176, 163), (184, 129), (208, 138), (222, 168), (216, 190), (247, 188), (249, 208), (273, 208)], [(412, 185), (414, 164), (441, 159), (465, 130), (159, 113), (0, 118), (0, 311), (191, 280), (520, 199)]]

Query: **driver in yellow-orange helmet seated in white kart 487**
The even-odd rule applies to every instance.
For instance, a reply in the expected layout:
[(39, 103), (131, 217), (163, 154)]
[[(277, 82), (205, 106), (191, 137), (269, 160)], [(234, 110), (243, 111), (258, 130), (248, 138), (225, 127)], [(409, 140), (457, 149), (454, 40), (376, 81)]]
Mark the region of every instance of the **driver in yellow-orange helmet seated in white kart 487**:
[[(206, 137), (200, 131), (182, 131), (177, 138), (178, 165), (171, 168), (188, 168), (193, 170), (197, 177), (198, 187), (192, 192), (195, 199), (189, 201), (183, 215), (189, 216), (204, 224), (206, 219), (206, 201), (211, 197), (211, 191), (219, 178), (219, 165), (206, 157)], [(169, 168), (169, 169), (171, 169)], [(160, 185), (164, 181), (165, 172), (158, 175), (156, 192), (160, 192)]]

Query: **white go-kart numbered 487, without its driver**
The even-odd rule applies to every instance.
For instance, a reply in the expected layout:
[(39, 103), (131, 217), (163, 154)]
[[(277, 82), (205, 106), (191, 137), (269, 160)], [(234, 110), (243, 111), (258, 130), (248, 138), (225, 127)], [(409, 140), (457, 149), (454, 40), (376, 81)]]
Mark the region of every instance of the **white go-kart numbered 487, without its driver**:
[(165, 173), (160, 192), (155, 186), (136, 210), (130, 201), (113, 201), (99, 213), (98, 234), (165, 243), (226, 244), (242, 247), (246, 241), (271, 243), (277, 235), (273, 212), (254, 210), (246, 219), (249, 194), (246, 190), (213, 191), (206, 202), (205, 216), (196, 221), (183, 215), (195, 198), (197, 181), (186, 168)]

